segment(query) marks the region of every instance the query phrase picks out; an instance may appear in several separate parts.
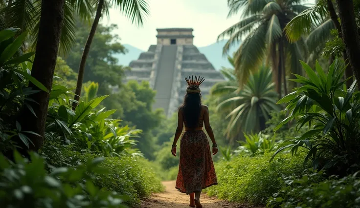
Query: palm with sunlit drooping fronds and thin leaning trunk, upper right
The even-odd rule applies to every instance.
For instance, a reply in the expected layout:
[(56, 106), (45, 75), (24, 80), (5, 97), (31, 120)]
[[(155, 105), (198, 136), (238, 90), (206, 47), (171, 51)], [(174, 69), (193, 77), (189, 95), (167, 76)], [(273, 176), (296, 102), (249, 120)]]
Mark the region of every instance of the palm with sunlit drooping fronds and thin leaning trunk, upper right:
[[(320, 54), (318, 50), (319, 45), (323, 47), (326, 41), (330, 40), (330, 30), (337, 29), (338, 37), (342, 38), (342, 29), (338, 16), (334, 8), (332, 0), (319, 2), (315, 6), (304, 10), (298, 16), (293, 18), (285, 27), (286, 35), (290, 42), (295, 42), (303, 35), (309, 34), (307, 38), (307, 45), (310, 51), (315, 51), (315, 54)], [(312, 47), (315, 46), (315, 47)], [(342, 51), (342, 57), (348, 63), (348, 55), (346, 50)], [(353, 76), (351, 65), (348, 64), (345, 70), (345, 79)], [(348, 80), (347, 87), (350, 87), (352, 80)]]

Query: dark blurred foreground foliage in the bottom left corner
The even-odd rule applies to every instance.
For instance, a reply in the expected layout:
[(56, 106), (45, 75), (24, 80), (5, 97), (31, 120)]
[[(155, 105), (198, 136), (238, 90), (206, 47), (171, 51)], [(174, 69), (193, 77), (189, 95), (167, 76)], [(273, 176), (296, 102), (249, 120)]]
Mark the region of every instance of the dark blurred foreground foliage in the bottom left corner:
[(104, 158), (95, 158), (76, 168), (55, 168), (45, 172), (44, 159), (31, 154), (31, 163), (15, 153), (16, 164), (0, 155), (0, 201), (3, 208), (124, 208), (116, 192), (93, 184), (91, 172), (106, 173), (100, 168)]

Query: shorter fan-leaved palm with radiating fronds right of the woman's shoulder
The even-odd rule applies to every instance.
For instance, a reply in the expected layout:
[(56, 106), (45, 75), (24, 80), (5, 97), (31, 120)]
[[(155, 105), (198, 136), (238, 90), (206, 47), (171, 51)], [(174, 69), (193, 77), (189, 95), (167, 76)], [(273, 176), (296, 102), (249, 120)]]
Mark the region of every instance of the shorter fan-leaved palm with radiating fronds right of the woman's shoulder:
[[(271, 70), (262, 65), (254, 74), (250, 72), (248, 82), (240, 88), (238, 82), (227, 81), (212, 89), (220, 94), (217, 110), (226, 112), (230, 118), (226, 134), (238, 135), (241, 131), (265, 129), (272, 110), (280, 110), (276, 105), (277, 93), (271, 80)], [(234, 86), (234, 83), (237, 86)]]

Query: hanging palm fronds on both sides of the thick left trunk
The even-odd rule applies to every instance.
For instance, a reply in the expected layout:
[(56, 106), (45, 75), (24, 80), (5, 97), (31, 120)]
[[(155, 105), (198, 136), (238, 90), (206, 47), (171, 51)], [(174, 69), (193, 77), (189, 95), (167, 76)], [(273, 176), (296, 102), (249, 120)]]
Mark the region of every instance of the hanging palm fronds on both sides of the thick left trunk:
[[(27, 32), (31, 49), (35, 49), (42, 11), (41, 0), (0, 0), (0, 29), (16, 27)], [(92, 0), (65, 0), (64, 23), (60, 37), (60, 52), (67, 54), (75, 43), (75, 18), (90, 20)]]

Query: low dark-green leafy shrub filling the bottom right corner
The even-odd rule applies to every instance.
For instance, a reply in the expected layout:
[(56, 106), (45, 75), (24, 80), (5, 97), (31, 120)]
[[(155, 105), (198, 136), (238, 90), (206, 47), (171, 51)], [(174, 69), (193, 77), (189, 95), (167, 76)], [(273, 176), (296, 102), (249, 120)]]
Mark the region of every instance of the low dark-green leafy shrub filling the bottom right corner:
[(270, 208), (359, 208), (360, 179), (354, 175), (324, 180), (322, 172), (286, 177), (268, 200)]

